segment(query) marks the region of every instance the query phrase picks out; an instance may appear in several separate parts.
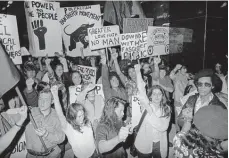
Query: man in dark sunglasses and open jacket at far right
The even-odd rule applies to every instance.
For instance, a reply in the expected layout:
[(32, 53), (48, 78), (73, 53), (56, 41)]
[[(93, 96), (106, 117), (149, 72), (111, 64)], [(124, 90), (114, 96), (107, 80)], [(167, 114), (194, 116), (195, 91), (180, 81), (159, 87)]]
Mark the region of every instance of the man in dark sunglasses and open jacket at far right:
[(226, 106), (213, 93), (216, 79), (217, 76), (211, 69), (201, 70), (195, 75), (194, 82), (198, 93), (188, 98), (177, 117), (178, 125), (182, 128), (181, 131), (189, 131), (196, 112), (205, 106), (217, 105), (227, 110)]

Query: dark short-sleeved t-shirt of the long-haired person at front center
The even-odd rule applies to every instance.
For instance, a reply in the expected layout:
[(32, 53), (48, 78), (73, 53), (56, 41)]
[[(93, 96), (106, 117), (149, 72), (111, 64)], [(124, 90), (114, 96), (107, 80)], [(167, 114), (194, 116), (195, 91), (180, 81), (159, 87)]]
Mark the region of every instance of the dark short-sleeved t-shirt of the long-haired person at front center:
[[(113, 139), (118, 135), (118, 132), (111, 130), (110, 127), (108, 127), (105, 124), (99, 124), (96, 128), (96, 143), (97, 146), (101, 140), (108, 141), (110, 139)], [(111, 151), (104, 153), (103, 158), (125, 158), (126, 153), (122, 146), (122, 143), (119, 143), (114, 149)]]

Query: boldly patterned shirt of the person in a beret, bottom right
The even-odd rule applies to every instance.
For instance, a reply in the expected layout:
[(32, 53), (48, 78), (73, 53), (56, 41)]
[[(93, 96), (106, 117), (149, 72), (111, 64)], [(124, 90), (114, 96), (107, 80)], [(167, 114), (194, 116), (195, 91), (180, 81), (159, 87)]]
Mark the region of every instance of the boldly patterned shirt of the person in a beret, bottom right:
[(184, 143), (189, 149), (196, 150), (196, 154), (200, 158), (209, 155), (215, 158), (222, 157), (216, 148), (220, 141), (213, 138), (209, 139), (207, 136), (202, 135), (194, 124), (192, 124), (191, 129), (181, 141), (181, 143)]

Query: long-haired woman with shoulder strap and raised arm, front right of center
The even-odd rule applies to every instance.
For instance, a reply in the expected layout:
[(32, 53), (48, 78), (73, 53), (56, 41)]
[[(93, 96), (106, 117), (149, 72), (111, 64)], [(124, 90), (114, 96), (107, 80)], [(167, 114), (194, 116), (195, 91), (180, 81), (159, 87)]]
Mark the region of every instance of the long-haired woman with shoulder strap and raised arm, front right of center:
[(170, 122), (171, 110), (163, 88), (152, 86), (147, 94), (145, 83), (141, 76), (141, 65), (135, 65), (140, 105), (147, 111), (135, 139), (138, 157), (165, 158), (168, 152), (167, 129)]

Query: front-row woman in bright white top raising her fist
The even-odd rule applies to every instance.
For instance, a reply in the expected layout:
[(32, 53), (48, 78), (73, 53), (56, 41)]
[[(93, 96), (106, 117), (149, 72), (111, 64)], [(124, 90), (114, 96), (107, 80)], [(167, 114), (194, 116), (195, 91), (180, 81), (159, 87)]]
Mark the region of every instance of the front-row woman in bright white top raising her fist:
[(93, 157), (96, 154), (95, 142), (85, 108), (81, 104), (73, 103), (69, 105), (65, 117), (59, 102), (58, 87), (53, 86), (51, 92), (62, 130), (68, 138), (74, 155), (77, 158)]

